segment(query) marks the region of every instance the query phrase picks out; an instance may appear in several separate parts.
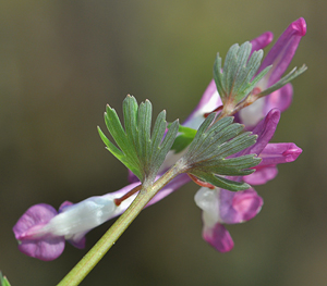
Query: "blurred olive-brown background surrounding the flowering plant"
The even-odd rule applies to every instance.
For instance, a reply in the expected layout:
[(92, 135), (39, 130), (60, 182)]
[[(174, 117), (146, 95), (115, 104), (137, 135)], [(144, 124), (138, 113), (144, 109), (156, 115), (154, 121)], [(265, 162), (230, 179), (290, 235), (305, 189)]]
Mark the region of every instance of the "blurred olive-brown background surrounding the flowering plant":
[(155, 113), (183, 120), (226, 54), (300, 16), (307, 35), (291, 66), (294, 100), (274, 141), (303, 153), (256, 190), (258, 216), (229, 226), (235, 247), (218, 253), (201, 237), (197, 187), (184, 186), (145, 210), (82, 285), (327, 284), (327, 7), (325, 1), (1, 1), (0, 269), (13, 286), (55, 285), (112, 222), (43, 262), (22, 254), (12, 226), (32, 204), (58, 208), (126, 184), (96, 126), (125, 95), (148, 98)]

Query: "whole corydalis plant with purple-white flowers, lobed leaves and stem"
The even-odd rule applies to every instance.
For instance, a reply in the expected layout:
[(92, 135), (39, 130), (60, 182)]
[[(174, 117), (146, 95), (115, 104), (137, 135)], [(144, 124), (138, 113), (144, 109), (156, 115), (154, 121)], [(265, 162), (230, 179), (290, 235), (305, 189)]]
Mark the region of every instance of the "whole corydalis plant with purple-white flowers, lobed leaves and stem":
[[(232, 47), (223, 70), (221, 61), (220, 65), (219, 59), (216, 61), (215, 71), (220, 73), (215, 75), (216, 84), (211, 80), (183, 126), (173, 123), (171, 130), (167, 130), (162, 113), (150, 135), (150, 103), (146, 101), (138, 107), (134, 98), (128, 97), (123, 108), (123, 128), (114, 110), (107, 107), (105, 120), (117, 146), (101, 130), (99, 133), (107, 148), (135, 174), (130, 173), (132, 184), (75, 204), (65, 201), (59, 212), (45, 203), (31, 207), (13, 227), (20, 250), (41, 260), (53, 260), (63, 251), (64, 240), (83, 248), (87, 232), (122, 214), (59, 284), (76, 285), (145, 206), (161, 200), (190, 182), (190, 177), (203, 186), (195, 201), (203, 209), (205, 240), (221, 252), (231, 250), (233, 241), (225, 224), (251, 220), (263, 206), (263, 199), (247, 184), (267, 183), (277, 175), (277, 164), (292, 162), (302, 152), (294, 144), (269, 144), (269, 140), (280, 112), (291, 102), (293, 91), (287, 83), (305, 69), (281, 78), (305, 33), (303, 18), (291, 23), (263, 64), (259, 64), (262, 51), (255, 51), (270, 43), (271, 33), (252, 40), (251, 49), (249, 43)], [(272, 94), (262, 98), (267, 92)], [(232, 124), (231, 117), (226, 117), (233, 113), (235, 122), (253, 130), (257, 139), (244, 133), (242, 125)], [(177, 128), (179, 135), (174, 139)], [(168, 152), (169, 146), (171, 150)], [(262, 159), (258, 165), (261, 159), (256, 156)], [(249, 189), (230, 191), (244, 188)]]

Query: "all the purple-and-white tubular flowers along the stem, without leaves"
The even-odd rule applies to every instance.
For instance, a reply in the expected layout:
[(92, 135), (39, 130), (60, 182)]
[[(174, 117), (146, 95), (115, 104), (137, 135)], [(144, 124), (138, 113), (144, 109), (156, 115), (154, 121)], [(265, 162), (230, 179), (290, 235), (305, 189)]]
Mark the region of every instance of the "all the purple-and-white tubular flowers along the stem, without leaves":
[[(257, 73), (269, 65), (272, 67), (257, 83), (254, 91), (267, 89), (281, 78), (305, 33), (306, 24), (303, 18), (296, 20), (284, 30), (261, 65)], [(251, 41), (252, 52), (264, 49), (271, 40), (272, 34), (269, 32), (255, 38)], [(294, 144), (269, 144), (280, 113), (290, 105), (292, 95), (292, 86), (287, 84), (234, 114), (237, 122), (244, 124), (245, 128), (257, 135), (257, 141), (233, 157), (257, 154), (262, 158), (262, 162), (254, 167), (253, 174), (229, 177), (229, 179), (251, 185), (265, 184), (276, 177), (277, 164), (292, 162), (302, 152)], [(219, 110), (221, 105), (222, 101), (213, 79), (183, 126), (197, 129), (205, 117)], [(162, 171), (171, 166), (182, 153), (183, 150), (169, 151)], [(58, 212), (45, 203), (31, 207), (13, 227), (15, 238), (19, 240), (19, 249), (27, 256), (48, 261), (62, 253), (65, 240), (77, 248), (83, 248), (86, 233), (120, 215), (130, 206), (135, 195), (116, 203), (117, 199), (140, 185), (132, 173), (129, 179), (131, 184), (118, 191), (92, 197), (75, 204), (64, 202)], [(161, 200), (190, 181), (187, 175), (179, 175), (165, 186), (148, 206)], [(234, 192), (201, 182), (199, 185), (203, 187), (196, 192), (195, 202), (203, 210), (203, 237), (217, 250), (229, 251), (233, 248), (233, 240), (225, 224), (242, 223), (253, 219), (261, 211), (263, 199), (253, 188)]]

